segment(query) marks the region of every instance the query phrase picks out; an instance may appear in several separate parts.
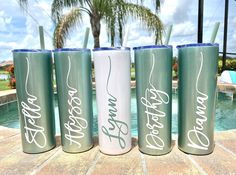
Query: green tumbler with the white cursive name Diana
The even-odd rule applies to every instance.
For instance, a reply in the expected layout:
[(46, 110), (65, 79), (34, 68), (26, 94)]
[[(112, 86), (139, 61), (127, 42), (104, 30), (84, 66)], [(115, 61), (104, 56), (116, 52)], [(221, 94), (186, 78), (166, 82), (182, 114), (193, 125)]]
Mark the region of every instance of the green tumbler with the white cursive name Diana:
[(214, 149), (214, 118), (219, 45), (177, 46), (179, 59), (178, 146), (205, 155)]

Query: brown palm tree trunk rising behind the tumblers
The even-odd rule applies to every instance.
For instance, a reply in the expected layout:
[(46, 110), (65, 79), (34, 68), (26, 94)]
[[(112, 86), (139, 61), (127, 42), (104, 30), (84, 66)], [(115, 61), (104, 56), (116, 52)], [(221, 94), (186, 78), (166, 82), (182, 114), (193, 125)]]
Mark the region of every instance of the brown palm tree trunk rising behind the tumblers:
[(100, 29), (101, 29), (100, 19), (101, 18), (99, 17), (99, 15), (96, 14), (90, 15), (90, 24), (93, 33), (94, 48), (100, 47), (100, 41), (99, 41)]

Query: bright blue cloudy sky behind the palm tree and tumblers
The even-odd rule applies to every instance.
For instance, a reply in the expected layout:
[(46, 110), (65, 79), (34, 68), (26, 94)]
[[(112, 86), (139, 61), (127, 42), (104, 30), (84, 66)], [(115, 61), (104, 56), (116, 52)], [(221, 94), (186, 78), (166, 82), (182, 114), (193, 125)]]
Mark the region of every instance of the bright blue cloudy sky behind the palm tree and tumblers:
[[(54, 24), (51, 20), (52, 0), (29, 0), (28, 9), (21, 9), (18, 0), (0, 0), (0, 62), (12, 60), (13, 49), (39, 49), (38, 26), (44, 27), (46, 49), (53, 49), (52, 36)], [(153, 9), (150, 0), (145, 6)], [(236, 1), (229, 0), (228, 18), (228, 48), (227, 52), (236, 53)], [(169, 44), (173, 45), (174, 55), (177, 55), (177, 45), (197, 42), (198, 0), (162, 0), (159, 17), (165, 28), (173, 24), (172, 36)], [(203, 42), (209, 42), (215, 22), (220, 22), (216, 42), (223, 47), (224, 1), (204, 1)], [(132, 20), (129, 24), (129, 38), (127, 46), (135, 47), (154, 44), (152, 33), (144, 30), (140, 22)], [(107, 38), (106, 25), (102, 22), (100, 45), (110, 46)], [(87, 15), (83, 23), (71, 30), (65, 47), (82, 47), (86, 27), (90, 27)], [(164, 37), (164, 36), (163, 36)], [(93, 38), (90, 33), (88, 48), (93, 48)]]

